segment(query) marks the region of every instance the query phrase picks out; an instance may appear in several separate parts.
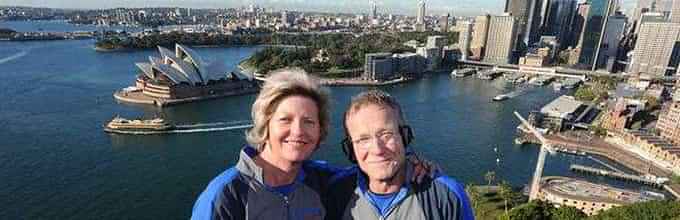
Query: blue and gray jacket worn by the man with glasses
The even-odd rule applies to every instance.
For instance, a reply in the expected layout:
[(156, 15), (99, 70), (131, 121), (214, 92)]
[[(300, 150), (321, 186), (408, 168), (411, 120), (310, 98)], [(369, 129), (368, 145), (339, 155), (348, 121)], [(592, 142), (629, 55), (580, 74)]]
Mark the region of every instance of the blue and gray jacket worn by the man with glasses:
[[(407, 179), (413, 167), (407, 164)], [(396, 198), (381, 215), (369, 199), (366, 176), (347, 171), (331, 180), (327, 219), (456, 219), (475, 218), (463, 187), (454, 179), (438, 175), (426, 177), (421, 183), (405, 183)]]

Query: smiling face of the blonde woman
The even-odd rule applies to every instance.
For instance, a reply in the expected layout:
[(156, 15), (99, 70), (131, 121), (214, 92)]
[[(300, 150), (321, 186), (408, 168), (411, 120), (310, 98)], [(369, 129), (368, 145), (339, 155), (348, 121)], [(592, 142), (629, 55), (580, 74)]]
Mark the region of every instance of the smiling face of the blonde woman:
[(284, 161), (302, 162), (319, 144), (319, 110), (314, 100), (305, 96), (281, 100), (267, 126), (272, 154)]

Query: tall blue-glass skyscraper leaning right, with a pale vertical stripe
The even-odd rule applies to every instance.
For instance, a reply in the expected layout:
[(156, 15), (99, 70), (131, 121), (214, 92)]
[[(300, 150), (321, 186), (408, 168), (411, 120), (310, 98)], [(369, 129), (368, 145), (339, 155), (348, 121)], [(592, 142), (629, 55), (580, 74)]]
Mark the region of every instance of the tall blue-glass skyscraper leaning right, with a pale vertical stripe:
[(581, 38), (578, 63), (595, 70), (601, 67), (601, 63), (597, 62), (600, 49), (602, 46), (602, 33), (607, 25), (607, 19), (614, 13), (615, 0), (587, 0), (586, 3), (590, 5), (588, 16), (585, 17), (585, 26), (583, 28), (583, 37)]

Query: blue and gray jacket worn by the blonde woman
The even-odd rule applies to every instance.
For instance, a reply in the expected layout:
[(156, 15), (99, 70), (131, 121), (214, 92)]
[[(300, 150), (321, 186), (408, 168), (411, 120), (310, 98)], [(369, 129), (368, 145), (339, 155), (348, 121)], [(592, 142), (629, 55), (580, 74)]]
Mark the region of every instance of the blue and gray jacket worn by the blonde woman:
[(254, 148), (245, 147), (236, 166), (215, 177), (201, 193), (191, 219), (323, 219), (321, 195), (332, 168), (325, 162), (304, 162), (293, 191), (283, 195), (264, 184), (255, 155)]

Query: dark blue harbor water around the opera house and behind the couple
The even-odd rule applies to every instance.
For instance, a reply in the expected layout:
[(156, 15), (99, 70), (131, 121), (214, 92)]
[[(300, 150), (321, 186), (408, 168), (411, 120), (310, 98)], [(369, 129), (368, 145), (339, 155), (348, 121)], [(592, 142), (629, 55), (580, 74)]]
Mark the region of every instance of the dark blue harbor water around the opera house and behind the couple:
[[(69, 26), (55, 25), (0, 23), (22, 31)], [(235, 163), (245, 144), (244, 130), (129, 136), (107, 134), (103, 124), (116, 115), (162, 115), (179, 123), (247, 121), (255, 95), (163, 109), (117, 103), (112, 93), (133, 84), (134, 63), (157, 51), (98, 53), (93, 43), (0, 42), (0, 216), (188, 218), (206, 184)], [(195, 49), (204, 60), (235, 69), (257, 47)], [(341, 114), (351, 96), (365, 89), (331, 89), (334, 126), (316, 159), (348, 165), (339, 147)], [(448, 74), (383, 89), (404, 106), (416, 135), (415, 151), (461, 182), (482, 184), (484, 173), (495, 171), (497, 179), (515, 186), (531, 178), (538, 149), (513, 144), (518, 121), (512, 112), (527, 115), (561, 95), (544, 87), (491, 102), (512, 88), (501, 80), (452, 79)], [(568, 171), (572, 163), (601, 167), (584, 157), (557, 154), (548, 158), (545, 175), (574, 176)]]

